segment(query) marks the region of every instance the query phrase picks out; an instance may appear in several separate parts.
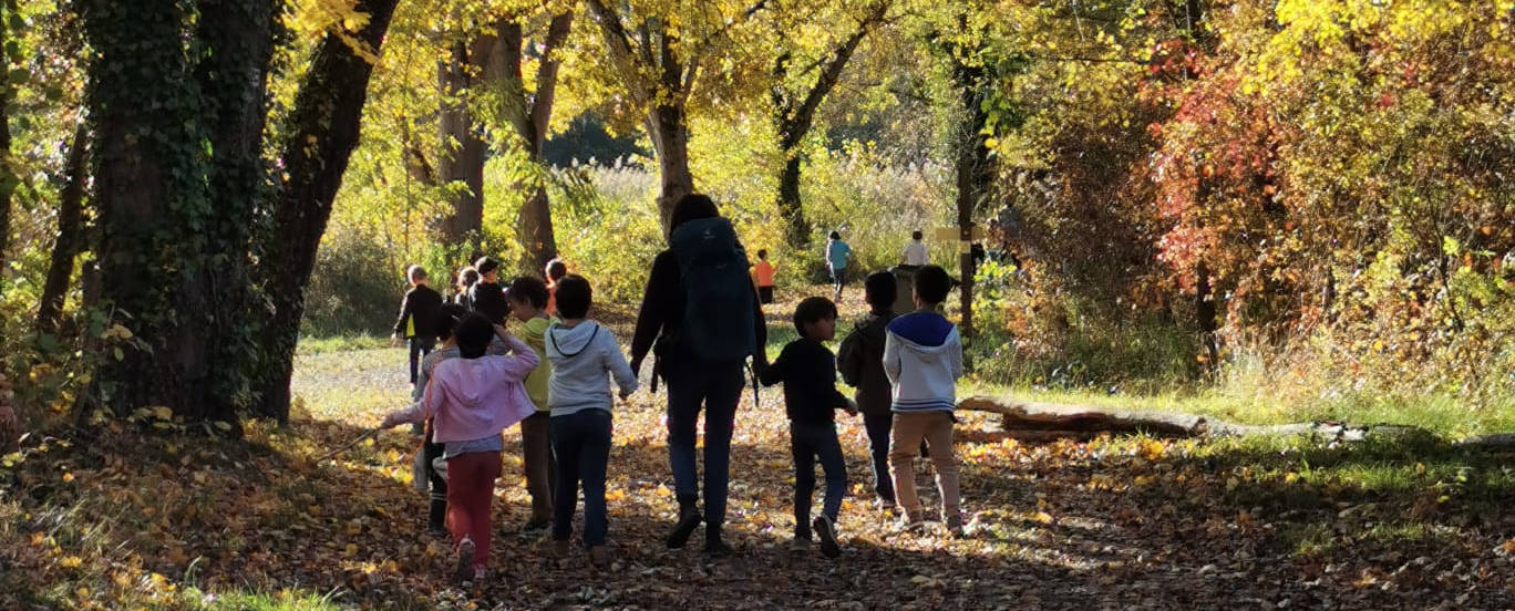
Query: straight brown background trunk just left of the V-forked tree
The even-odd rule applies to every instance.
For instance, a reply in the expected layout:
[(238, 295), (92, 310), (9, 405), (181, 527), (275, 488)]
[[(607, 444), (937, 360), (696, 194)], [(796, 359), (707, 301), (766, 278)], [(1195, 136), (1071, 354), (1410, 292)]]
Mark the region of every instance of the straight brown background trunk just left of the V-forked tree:
[[(456, 41), (447, 60), (438, 65), (438, 88), (442, 91), (441, 142), (436, 159), (438, 174), (448, 185), (448, 209), (442, 218), (442, 240), (447, 245), (470, 242), (479, 251), (483, 230), (483, 139), (474, 126), (468, 97), (476, 57), (468, 44)], [(453, 185), (458, 183), (458, 185)]]

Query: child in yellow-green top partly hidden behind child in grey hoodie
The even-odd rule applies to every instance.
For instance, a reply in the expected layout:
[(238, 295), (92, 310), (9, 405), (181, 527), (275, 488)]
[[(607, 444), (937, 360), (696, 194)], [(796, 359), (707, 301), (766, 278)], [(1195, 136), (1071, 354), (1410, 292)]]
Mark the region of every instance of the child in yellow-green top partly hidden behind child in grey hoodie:
[[(547, 284), (538, 278), (523, 275), (511, 283), (506, 292), (511, 302), (511, 315), (521, 322), (517, 337), (538, 351), (547, 349)], [(532, 495), (532, 517), (521, 526), (523, 531), (541, 531), (553, 523), (553, 448), (548, 423), (551, 414), (547, 410), (547, 378), (551, 377), (551, 363), (542, 358), (536, 369), (526, 377), (526, 396), (536, 405), (536, 413), (521, 420), (521, 463), (526, 470), (526, 492)]]

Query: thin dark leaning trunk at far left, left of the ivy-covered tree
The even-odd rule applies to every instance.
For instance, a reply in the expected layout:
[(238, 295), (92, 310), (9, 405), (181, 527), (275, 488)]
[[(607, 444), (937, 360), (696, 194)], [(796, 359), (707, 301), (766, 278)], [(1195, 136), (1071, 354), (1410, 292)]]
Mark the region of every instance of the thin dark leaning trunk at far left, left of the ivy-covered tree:
[(85, 177), (89, 157), (85, 153), (89, 129), (80, 123), (74, 129), (73, 148), (68, 150), (68, 178), (58, 198), (58, 239), (53, 242), (53, 257), (47, 266), (47, 281), (42, 283), (42, 298), (36, 306), (36, 330), (58, 333), (59, 315), (64, 312), (64, 296), (68, 280), (74, 275), (74, 257), (79, 256), (83, 233)]

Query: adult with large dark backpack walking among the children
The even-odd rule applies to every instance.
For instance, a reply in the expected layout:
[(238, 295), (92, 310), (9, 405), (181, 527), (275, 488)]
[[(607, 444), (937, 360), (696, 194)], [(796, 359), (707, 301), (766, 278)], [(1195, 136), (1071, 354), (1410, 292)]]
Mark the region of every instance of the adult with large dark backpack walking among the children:
[[(689, 194), (670, 218), (668, 250), (653, 259), (632, 337), (632, 371), (653, 352), (653, 389), (668, 384), (668, 463), (673, 467), (679, 517), (668, 534), (670, 549), (683, 547), (704, 522), (704, 552), (724, 557), (721, 538), (730, 482), (732, 428), (754, 357), (768, 364), (758, 290), (747, 275), (747, 253), (732, 222), (709, 197)], [(695, 467), (695, 422), (704, 408), (704, 514), (700, 514)]]

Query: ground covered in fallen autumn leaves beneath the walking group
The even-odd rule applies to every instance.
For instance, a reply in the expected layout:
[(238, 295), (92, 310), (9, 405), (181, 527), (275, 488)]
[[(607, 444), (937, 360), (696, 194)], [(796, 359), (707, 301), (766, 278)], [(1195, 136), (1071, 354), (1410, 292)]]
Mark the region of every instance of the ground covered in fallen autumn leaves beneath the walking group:
[[(973, 413), (957, 430), (967, 538), (939, 523), (901, 534), (873, 508), (862, 423), (839, 416), (844, 555), (795, 554), (777, 389), (761, 405), (745, 393), (738, 414), (735, 557), (708, 561), (698, 535), (689, 549), (664, 549), (674, 511), (664, 396), (642, 392), (615, 413), (614, 564), (594, 569), (577, 549), (550, 560), (538, 534), (520, 532), (529, 499), (512, 431), (491, 575), (459, 588), (447, 579), (450, 544), (426, 532), (426, 498), (411, 488), (412, 437), (388, 431), (314, 460), (400, 405), (401, 375), (400, 351), (301, 357), (295, 420), (250, 423), (241, 442), (120, 422), (94, 439), (32, 442), (0, 469), (0, 606), (236, 608), (236, 593), (427, 609), (1515, 603), (1515, 517), (1486, 511), (1510, 501), (1507, 487), (1407, 469), (1424, 479), (1376, 488), (1286, 452), (1198, 442), (1023, 445)], [(918, 473), (935, 504), (927, 461)]]

